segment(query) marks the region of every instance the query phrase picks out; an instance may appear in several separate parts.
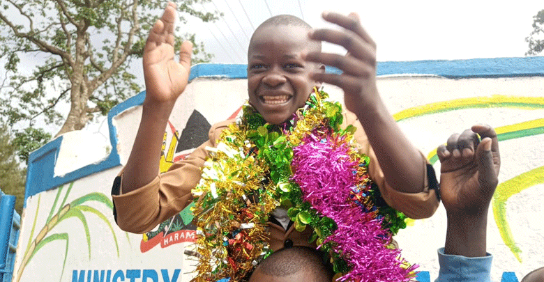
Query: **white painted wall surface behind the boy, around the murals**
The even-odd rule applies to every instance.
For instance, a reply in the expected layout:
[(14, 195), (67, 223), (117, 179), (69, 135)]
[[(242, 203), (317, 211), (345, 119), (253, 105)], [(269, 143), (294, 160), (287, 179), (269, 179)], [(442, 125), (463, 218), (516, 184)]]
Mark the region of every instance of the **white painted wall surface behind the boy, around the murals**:
[[(492, 97), (492, 95), (511, 96), (517, 101), (527, 100), (527, 97), (535, 97), (539, 99), (541, 105), (544, 104), (544, 77), (446, 79), (435, 76), (404, 75), (379, 77), (378, 86), (381, 96), (392, 114), (434, 102), (450, 101), (449, 104), (455, 104), (459, 103), (455, 100), (461, 98), (475, 98), (474, 100), (477, 102)], [(330, 93), (331, 97), (342, 100), (342, 92), (338, 88), (326, 86), (324, 90)], [(194, 79), (186, 89), (186, 93), (183, 93), (176, 103), (170, 120), (176, 130), (181, 132), (192, 110), (195, 109), (202, 113), (209, 123), (220, 122), (241, 106), (246, 98), (246, 93), (245, 79)], [(118, 139), (117, 152), (119, 152), (121, 164), (126, 163), (130, 154), (140, 115), (141, 107), (137, 106), (123, 111), (113, 119)], [(399, 123), (414, 145), (425, 155), (428, 155), (440, 143), (444, 143), (450, 134), (462, 132), (475, 123), (488, 123), (499, 128), (543, 117), (543, 106), (540, 109), (488, 107), (485, 109), (458, 109), (416, 116), (401, 120)], [(169, 127), (166, 131), (165, 146), (167, 150), (172, 143), (172, 132)], [(63, 139), (55, 166), (56, 175), (69, 173), (84, 164), (96, 163), (105, 156), (103, 152), (107, 149), (103, 144), (89, 142), (89, 140), (93, 140), (92, 137), (75, 136), (77, 134), (74, 132), (74, 136)], [(85, 146), (80, 146), (80, 142)], [(500, 182), (506, 182), (517, 175), (531, 171), (531, 169), (544, 166), (543, 145), (544, 134), (542, 133), (501, 141), (499, 143), (502, 157)], [(82, 150), (84, 150), (84, 154), (82, 154)], [(75, 180), (68, 196), (66, 196), (66, 203), (91, 193), (100, 193), (109, 197), (112, 181), (120, 169), (121, 166), (117, 166)], [(439, 171), (439, 164), (435, 164), (435, 169)], [(543, 175), (536, 176), (544, 178)], [(69, 186), (70, 184), (66, 184), (62, 189), (57, 187), (28, 199), (27, 207), (23, 213), (24, 219), (15, 273), (21, 269), (22, 263), (27, 261), (24, 259), (27, 246), (36, 240), (43, 226), (48, 226), (47, 218), (55, 198), (59, 195), (54, 213), (59, 209)], [(514, 188), (507, 188), (506, 191), (511, 191)], [(59, 193), (59, 191), (61, 192)], [(541, 204), (543, 199), (544, 185), (540, 184), (524, 189), (506, 202), (507, 223), (513, 235), (513, 242), (522, 251), (520, 253), (521, 262), (515, 258), (511, 249), (501, 238), (498, 226), (504, 226), (504, 222), (497, 222), (492, 210), (490, 210), (488, 251), (494, 255), (492, 268), (494, 281), (500, 281), (503, 272), (515, 272), (517, 277), (521, 279), (532, 269), (544, 265), (544, 257), (541, 253), (541, 250), (544, 249), (544, 224), (541, 223), (544, 218)], [(52, 225), (49, 221), (50, 228), (44, 238), (56, 234), (56, 237), (60, 239), (44, 244), (36, 252), (36, 255), (28, 260), (22, 271), (22, 276), (17, 278), (16, 274), (14, 281), (87, 281), (88, 276), (84, 276), (84, 280), (74, 279), (73, 271), (79, 275), (81, 270), (105, 270), (106, 275), (107, 270), (111, 270), (113, 276), (118, 269), (125, 276), (126, 269), (137, 269), (141, 275), (143, 275), (144, 269), (151, 269), (158, 273), (158, 281), (163, 281), (160, 269), (168, 269), (168, 274), (171, 277), (175, 269), (183, 269), (181, 272), (185, 273), (189, 268), (189, 262), (183, 256), (183, 250), (189, 243), (173, 244), (165, 248), (158, 245), (150, 251), (142, 253), (140, 251), (142, 235), (128, 234), (119, 230), (114, 224), (111, 209), (107, 205), (99, 201), (87, 201), (84, 205), (95, 208), (104, 215), (108, 223), (101, 219), (97, 213), (81, 210), (89, 225), (89, 235), (86, 235), (83, 221), (77, 217), (70, 217), (56, 225)], [(439, 207), (432, 218), (411, 221), (410, 226), (401, 230), (395, 238), (403, 249), (405, 258), (411, 263), (421, 265), (421, 271), (429, 271), (432, 279), (437, 276), (438, 272), (436, 250), (444, 246), (445, 219), (444, 208)], [(120, 251), (119, 256), (116, 255), (114, 237), (109, 224), (111, 224), (116, 236)], [(68, 240), (62, 239), (63, 237)], [(90, 243), (87, 242), (87, 237), (90, 237)], [(68, 251), (66, 251), (67, 242)], [(65, 258), (66, 265), (62, 270)], [(75, 278), (78, 277), (80, 278), (80, 276)], [(124, 279), (124, 281), (131, 281), (128, 277)], [(183, 274), (183, 281), (188, 280), (190, 280), (190, 276)], [(135, 278), (134, 281), (142, 281), (142, 277)], [(153, 281), (153, 279), (147, 281)], [(177, 281), (182, 281), (181, 276)]]

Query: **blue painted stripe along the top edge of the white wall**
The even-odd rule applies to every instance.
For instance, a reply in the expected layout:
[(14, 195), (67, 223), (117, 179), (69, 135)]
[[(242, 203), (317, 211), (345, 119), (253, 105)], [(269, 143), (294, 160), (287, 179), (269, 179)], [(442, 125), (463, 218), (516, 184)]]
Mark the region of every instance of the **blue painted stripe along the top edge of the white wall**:
[[(247, 66), (245, 64), (197, 64), (191, 68), (189, 79), (197, 77), (217, 77), (228, 79), (245, 79)], [(339, 72), (328, 68), (328, 72)], [(448, 78), (475, 78), (475, 77), (533, 77), (544, 76), (544, 56), (524, 58), (474, 58), (454, 61), (404, 61), (379, 62), (378, 75), (439, 75)], [(130, 97), (125, 102), (116, 105), (109, 111), (107, 122), (109, 125), (109, 141), (112, 152), (98, 164), (89, 164), (81, 169), (67, 173), (62, 177), (54, 177), (54, 165), (59, 154), (62, 136), (45, 144), (42, 148), (32, 152), (29, 156), (27, 173), (27, 187), (25, 203), (29, 196), (41, 191), (52, 189), (60, 185), (84, 178), (92, 173), (105, 171), (121, 164), (117, 153), (117, 133), (112, 121), (114, 116), (130, 107), (142, 104), (145, 92)]]

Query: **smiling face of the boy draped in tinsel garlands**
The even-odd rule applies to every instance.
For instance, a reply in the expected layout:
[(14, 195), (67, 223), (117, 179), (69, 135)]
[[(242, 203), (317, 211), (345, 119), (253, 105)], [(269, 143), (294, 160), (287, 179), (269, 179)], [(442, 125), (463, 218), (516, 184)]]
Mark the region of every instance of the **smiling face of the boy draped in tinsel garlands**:
[(301, 26), (264, 26), (248, 49), (248, 95), (264, 119), (278, 125), (303, 107), (317, 82), (310, 79), (314, 63), (301, 54), (312, 48), (308, 29)]

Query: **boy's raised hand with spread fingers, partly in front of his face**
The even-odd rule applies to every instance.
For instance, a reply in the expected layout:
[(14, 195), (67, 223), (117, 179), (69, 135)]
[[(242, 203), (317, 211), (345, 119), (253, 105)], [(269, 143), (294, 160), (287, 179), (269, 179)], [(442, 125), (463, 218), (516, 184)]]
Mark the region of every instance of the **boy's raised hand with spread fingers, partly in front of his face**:
[(344, 90), (347, 109), (358, 113), (379, 98), (376, 87), (376, 43), (361, 26), (356, 13), (348, 16), (324, 12), (323, 19), (342, 26), (345, 30), (315, 29), (310, 31), (312, 40), (321, 40), (341, 45), (347, 54), (309, 52), (307, 61), (331, 65), (342, 74), (312, 73), (312, 79), (333, 84)]

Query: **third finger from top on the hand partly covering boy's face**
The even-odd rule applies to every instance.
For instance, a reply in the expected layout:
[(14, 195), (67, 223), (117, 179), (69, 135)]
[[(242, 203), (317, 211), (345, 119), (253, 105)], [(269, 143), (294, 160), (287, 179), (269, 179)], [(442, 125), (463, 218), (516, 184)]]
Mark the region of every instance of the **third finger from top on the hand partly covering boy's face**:
[(348, 75), (354, 75), (356, 77), (368, 77), (373, 73), (373, 70), (365, 72), (364, 68), (361, 68), (361, 62), (353, 56), (342, 56), (339, 54), (310, 52), (303, 55), (306, 61), (314, 63), (322, 63), (324, 65), (331, 65), (339, 70), (342, 70)]

